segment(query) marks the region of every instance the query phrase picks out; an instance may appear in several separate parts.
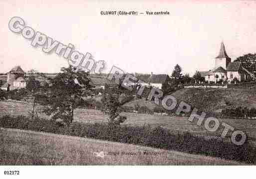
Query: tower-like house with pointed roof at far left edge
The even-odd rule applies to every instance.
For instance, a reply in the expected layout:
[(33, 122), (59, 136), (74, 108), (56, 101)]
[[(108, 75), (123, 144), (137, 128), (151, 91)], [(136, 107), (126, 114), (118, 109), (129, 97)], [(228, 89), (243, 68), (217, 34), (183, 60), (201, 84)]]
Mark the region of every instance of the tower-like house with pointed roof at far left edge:
[(13, 89), (25, 88), (26, 82), (24, 80), (25, 72), (20, 66), (13, 67), (7, 73), (7, 81), (0, 87), (1, 90), (9, 91)]

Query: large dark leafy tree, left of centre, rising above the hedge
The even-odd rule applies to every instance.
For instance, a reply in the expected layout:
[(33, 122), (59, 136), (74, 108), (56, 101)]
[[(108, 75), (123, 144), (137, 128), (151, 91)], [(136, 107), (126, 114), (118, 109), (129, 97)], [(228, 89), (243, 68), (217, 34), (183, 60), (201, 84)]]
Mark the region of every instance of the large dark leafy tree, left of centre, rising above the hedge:
[(69, 66), (61, 68), (61, 73), (49, 78), (50, 86), (47, 90), (48, 106), (44, 110), (52, 119), (62, 120), (69, 125), (73, 121), (74, 109), (78, 107), (77, 101), (87, 96), (83, 90), (91, 89), (89, 73)]

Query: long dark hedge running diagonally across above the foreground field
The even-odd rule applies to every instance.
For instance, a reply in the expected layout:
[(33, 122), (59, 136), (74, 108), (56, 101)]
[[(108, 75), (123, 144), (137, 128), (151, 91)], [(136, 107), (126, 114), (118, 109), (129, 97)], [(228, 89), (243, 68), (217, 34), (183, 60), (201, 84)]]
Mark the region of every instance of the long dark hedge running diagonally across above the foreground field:
[(256, 148), (248, 141), (242, 146), (237, 146), (221, 138), (205, 139), (204, 136), (196, 136), (188, 132), (172, 132), (161, 127), (152, 128), (149, 125), (120, 126), (73, 122), (69, 126), (59, 127), (52, 120), (4, 116), (0, 118), (0, 127), (149, 146), (256, 164)]

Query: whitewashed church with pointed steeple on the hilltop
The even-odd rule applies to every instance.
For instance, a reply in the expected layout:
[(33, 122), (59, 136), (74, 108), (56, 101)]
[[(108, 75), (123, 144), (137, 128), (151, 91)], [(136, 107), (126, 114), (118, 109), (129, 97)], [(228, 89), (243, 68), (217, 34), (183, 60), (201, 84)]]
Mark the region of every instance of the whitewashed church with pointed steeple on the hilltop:
[(241, 62), (231, 62), (223, 42), (219, 55), (215, 58), (215, 67), (210, 71), (201, 71), (200, 74), (206, 82), (215, 83), (220, 80), (231, 83), (234, 79), (243, 82), (252, 77), (252, 73), (244, 68)]

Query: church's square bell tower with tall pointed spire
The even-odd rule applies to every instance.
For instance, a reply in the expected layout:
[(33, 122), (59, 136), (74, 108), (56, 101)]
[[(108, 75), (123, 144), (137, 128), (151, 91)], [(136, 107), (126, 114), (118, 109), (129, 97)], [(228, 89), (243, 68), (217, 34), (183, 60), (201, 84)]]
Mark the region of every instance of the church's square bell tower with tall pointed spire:
[(230, 62), (231, 58), (228, 56), (225, 45), (222, 41), (219, 55), (215, 58), (215, 69), (223, 67), (226, 70)]

